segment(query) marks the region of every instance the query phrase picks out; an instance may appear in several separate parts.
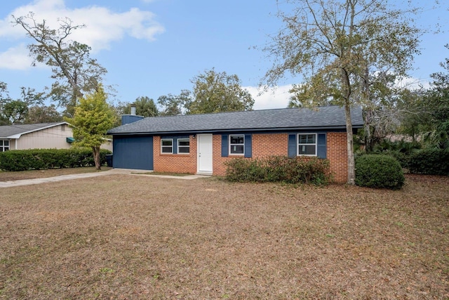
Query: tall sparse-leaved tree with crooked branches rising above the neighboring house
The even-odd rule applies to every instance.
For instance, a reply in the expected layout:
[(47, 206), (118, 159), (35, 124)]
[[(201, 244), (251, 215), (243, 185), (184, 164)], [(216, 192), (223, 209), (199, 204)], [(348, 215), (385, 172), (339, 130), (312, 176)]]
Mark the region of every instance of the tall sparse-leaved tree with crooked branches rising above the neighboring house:
[(49, 96), (65, 107), (65, 115), (72, 116), (77, 98), (95, 91), (107, 72), (97, 60), (90, 58), (91, 47), (69, 40), (74, 30), (86, 26), (73, 25), (72, 20), (64, 18), (59, 20), (58, 29), (51, 29), (46, 20), (37, 22), (34, 13), (18, 18), (13, 16), (13, 19), (13, 23), (23, 27), (27, 36), (36, 42), (28, 46), (34, 63), (51, 67), (51, 78), (55, 82)]

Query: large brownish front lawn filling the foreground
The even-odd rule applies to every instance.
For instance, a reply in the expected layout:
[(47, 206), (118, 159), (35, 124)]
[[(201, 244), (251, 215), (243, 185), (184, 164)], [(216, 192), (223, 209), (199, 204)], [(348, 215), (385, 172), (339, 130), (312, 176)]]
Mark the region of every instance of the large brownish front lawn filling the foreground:
[(449, 178), (108, 175), (1, 189), (4, 299), (448, 299)]

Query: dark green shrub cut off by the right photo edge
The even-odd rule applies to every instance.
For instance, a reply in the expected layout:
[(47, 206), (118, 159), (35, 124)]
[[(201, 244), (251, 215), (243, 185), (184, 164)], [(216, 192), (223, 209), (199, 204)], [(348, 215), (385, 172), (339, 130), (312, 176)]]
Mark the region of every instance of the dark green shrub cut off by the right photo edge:
[(408, 159), (408, 171), (412, 174), (449, 175), (449, 150), (422, 149), (413, 152)]

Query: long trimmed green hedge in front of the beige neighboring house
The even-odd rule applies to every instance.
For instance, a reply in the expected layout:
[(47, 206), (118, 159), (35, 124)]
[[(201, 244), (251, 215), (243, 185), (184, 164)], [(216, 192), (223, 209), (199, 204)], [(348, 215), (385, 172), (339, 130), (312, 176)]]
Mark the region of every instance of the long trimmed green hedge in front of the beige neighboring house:
[[(100, 150), (100, 164), (105, 164), (109, 150)], [(26, 171), (53, 168), (75, 168), (95, 166), (90, 148), (31, 149), (0, 152), (0, 169), (4, 171)]]

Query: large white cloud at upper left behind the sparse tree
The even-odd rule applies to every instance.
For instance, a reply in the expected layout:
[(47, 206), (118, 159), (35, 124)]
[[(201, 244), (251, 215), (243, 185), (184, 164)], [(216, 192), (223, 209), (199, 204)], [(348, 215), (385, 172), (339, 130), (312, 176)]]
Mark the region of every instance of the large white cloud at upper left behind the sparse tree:
[[(20, 26), (13, 27), (11, 15), (20, 17), (34, 13), (37, 22), (46, 20), (51, 28), (58, 28), (58, 18), (69, 18), (73, 25), (86, 25), (86, 28), (75, 30), (70, 39), (91, 46), (92, 52), (109, 48), (113, 41), (123, 39), (125, 35), (136, 39), (153, 41), (164, 28), (156, 22), (154, 13), (130, 8), (123, 13), (114, 13), (109, 8), (86, 6), (82, 8), (67, 8), (64, 0), (36, 0), (31, 4), (15, 8), (8, 17), (0, 20), (0, 39), (25, 39), (25, 31)], [(29, 41), (27, 41), (29, 42)], [(3, 50), (3, 49), (2, 49)], [(11, 51), (1, 53), (2, 58), (9, 60)]]

